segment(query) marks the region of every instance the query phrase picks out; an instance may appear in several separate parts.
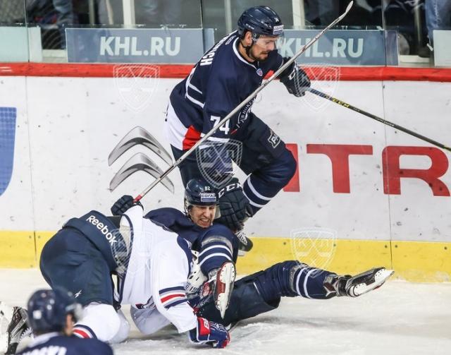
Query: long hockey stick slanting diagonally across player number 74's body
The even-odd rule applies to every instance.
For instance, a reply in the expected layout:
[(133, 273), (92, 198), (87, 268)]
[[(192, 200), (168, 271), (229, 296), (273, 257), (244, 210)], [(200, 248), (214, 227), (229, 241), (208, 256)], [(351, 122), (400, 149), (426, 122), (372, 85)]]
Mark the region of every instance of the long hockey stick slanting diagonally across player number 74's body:
[(219, 121), (213, 128), (211, 128), (211, 130), (208, 133), (206, 133), (206, 135), (203, 136), (202, 139), (197, 140), (197, 143), (194, 144), (190, 148), (190, 150), (187, 150), (180, 158), (178, 158), (178, 160), (176, 162), (174, 162), (174, 164), (172, 164), (171, 167), (169, 167), (166, 170), (166, 172), (164, 172), (158, 179), (156, 179), (147, 188), (145, 188), (144, 191), (142, 191), (142, 193), (140, 193), (140, 195), (137, 195), (137, 197), (135, 198), (135, 202), (141, 200), (143, 198), (143, 196), (146, 195), (146, 193), (151, 191), (152, 188), (154, 188), (154, 186), (156, 186), (156, 184), (161, 181), (161, 179), (164, 179), (170, 172), (173, 171), (173, 169), (178, 167), (178, 165), (181, 162), (183, 162), (183, 160), (185, 160), (188, 155), (190, 155), (197, 147), (199, 147), (199, 145), (201, 145), (202, 143), (204, 143), (205, 140), (210, 138), (219, 127), (221, 127), (223, 124), (225, 124), (234, 114), (239, 112), (240, 109), (242, 109), (242, 107), (245, 107), (245, 105), (249, 101), (251, 101), (261, 90), (266, 88), (266, 85), (268, 85), (269, 83), (271, 83), (271, 81), (273, 81), (275, 78), (277, 78), (280, 75), (280, 73), (285, 71), (285, 69), (288, 68), (288, 66), (290, 66), (292, 64), (293, 61), (295, 61), (302, 53), (307, 51), (307, 49), (309, 49), (317, 40), (319, 40), (319, 37), (321, 37), (327, 30), (330, 30), (330, 28), (333, 28), (333, 26), (335, 26), (337, 23), (339, 23), (350, 11), (350, 9), (352, 8), (352, 4), (354, 4), (354, 1), (351, 1), (350, 4), (347, 5), (346, 11), (344, 13), (342, 13), (342, 15), (340, 15), (338, 18), (335, 18), (335, 20), (333, 20), (332, 23), (330, 23), (330, 25), (328, 25), (326, 28), (321, 30), (321, 32), (319, 32), (309, 43), (307, 43), (304, 47), (299, 49), (299, 51), (294, 56), (292, 56), (290, 58), (290, 60), (288, 60), (283, 66), (278, 68), (278, 70), (275, 73), (273, 73), (273, 75), (270, 78), (268, 78), (268, 80), (265, 80), (263, 83), (261, 83), (261, 85), (254, 92), (252, 92), (252, 94), (250, 94), (248, 97), (246, 97), (245, 100), (243, 100), (237, 107), (235, 107), (235, 109), (233, 109), (232, 112), (230, 112), (230, 114), (228, 114), (226, 117), (221, 119), (221, 121)]

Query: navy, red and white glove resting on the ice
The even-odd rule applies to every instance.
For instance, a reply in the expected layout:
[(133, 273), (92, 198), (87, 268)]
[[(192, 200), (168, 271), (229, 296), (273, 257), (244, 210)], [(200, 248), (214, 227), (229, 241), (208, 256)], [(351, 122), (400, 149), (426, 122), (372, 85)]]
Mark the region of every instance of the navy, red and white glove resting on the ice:
[(210, 344), (214, 348), (224, 348), (230, 342), (226, 328), (205, 318), (197, 318), (197, 327), (188, 332), (190, 341), (197, 344)]

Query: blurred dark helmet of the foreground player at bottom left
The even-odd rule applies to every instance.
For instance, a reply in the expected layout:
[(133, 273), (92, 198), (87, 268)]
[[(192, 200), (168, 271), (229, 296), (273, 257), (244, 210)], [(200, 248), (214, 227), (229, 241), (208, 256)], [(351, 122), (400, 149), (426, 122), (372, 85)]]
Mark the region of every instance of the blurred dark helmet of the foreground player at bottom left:
[(33, 332), (58, 332), (66, 325), (66, 315), (72, 314), (74, 321), (82, 316), (82, 306), (73, 294), (62, 287), (39, 289), (27, 305), (28, 323)]

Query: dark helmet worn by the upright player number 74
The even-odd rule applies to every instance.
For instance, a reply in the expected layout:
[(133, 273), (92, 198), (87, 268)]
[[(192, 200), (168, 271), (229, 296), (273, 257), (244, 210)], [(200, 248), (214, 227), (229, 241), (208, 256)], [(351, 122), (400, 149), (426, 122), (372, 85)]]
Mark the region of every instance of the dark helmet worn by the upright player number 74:
[(246, 30), (252, 32), (254, 38), (259, 35), (279, 36), (283, 34), (283, 23), (269, 6), (255, 6), (248, 8), (238, 19), (238, 35), (243, 37)]

